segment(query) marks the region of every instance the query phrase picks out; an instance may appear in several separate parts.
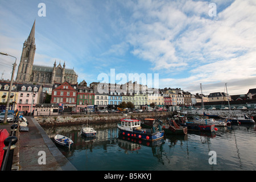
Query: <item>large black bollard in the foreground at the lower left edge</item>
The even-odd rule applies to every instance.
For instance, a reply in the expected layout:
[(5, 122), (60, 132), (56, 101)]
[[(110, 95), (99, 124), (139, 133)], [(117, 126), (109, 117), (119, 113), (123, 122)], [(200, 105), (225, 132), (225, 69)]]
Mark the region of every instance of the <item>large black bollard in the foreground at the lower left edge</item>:
[(12, 137), (7, 137), (3, 142), (5, 144), (5, 147), (3, 147), (3, 150), (5, 150), (5, 154), (3, 154), (1, 171), (11, 171), (11, 166), (13, 165), (14, 148), (16, 147), (15, 143), (17, 141), (18, 141), (18, 138), (12, 136)]

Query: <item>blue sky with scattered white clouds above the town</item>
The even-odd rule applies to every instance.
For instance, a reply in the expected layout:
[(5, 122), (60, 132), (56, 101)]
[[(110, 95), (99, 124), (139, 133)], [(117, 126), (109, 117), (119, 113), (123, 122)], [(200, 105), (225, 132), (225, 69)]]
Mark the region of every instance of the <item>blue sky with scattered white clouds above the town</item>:
[[(34, 64), (65, 61), (78, 82), (138, 74), (193, 94), (256, 88), (255, 0), (0, 0), (0, 52), (18, 65), (34, 20)], [(14, 61), (0, 55), (2, 78)]]

